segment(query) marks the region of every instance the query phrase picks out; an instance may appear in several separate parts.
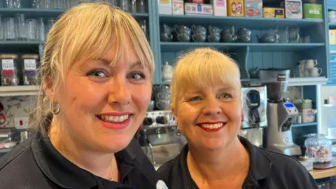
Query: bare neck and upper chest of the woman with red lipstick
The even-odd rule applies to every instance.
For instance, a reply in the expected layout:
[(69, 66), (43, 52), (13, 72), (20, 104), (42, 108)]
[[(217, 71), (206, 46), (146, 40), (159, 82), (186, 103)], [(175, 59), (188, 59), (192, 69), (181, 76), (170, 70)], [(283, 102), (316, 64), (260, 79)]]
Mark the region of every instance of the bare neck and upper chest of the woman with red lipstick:
[(187, 165), (190, 174), (206, 181), (221, 181), (223, 178), (246, 176), (249, 168), (248, 152), (239, 139), (232, 141), (228, 148), (204, 151), (189, 147)]

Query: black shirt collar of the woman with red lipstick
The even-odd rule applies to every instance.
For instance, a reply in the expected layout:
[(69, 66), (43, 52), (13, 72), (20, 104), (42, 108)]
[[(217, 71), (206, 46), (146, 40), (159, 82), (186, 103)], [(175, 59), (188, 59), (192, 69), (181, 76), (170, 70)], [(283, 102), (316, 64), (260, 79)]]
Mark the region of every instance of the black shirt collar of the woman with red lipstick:
[[(239, 141), (244, 145), (246, 150), (250, 155), (250, 168), (248, 170), (248, 176), (244, 181), (243, 188), (258, 188), (258, 181), (265, 179), (272, 167), (272, 161), (270, 158), (262, 153), (260, 148), (253, 146), (248, 139), (244, 137), (239, 137)], [(187, 154), (188, 154), (188, 144), (186, 144), (181, 151), (179, 162), (181, 167), (181, 174), (184, 183), (187, 185), (186, 188), (196, 188), (196, 183), (191, 178), (190, 172), (187, 166)]]

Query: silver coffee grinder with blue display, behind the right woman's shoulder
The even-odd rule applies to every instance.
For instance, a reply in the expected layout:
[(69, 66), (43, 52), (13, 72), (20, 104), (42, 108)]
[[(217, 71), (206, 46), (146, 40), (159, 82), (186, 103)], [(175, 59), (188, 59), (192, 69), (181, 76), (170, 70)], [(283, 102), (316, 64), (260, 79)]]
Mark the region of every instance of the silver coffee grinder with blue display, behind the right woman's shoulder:
[(288, 87), (289, 69), (260, 69), (261, 83), (267, 85), (266, 148), (285, 155), (301, 155), (301, 148), (293, 143), (291, 125), (298, 116), (296, 107), (283, 100)]

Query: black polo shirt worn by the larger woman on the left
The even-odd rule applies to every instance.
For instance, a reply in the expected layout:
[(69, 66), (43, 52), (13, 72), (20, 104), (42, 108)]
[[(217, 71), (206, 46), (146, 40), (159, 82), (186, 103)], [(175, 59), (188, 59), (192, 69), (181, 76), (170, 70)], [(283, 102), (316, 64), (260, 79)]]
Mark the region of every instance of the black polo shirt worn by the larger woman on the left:
[(156, 188), (158, 175), (135, 139), (116, 160), (120, 183), (74, 165), (38, 132), (1, 158), (0, 188)]

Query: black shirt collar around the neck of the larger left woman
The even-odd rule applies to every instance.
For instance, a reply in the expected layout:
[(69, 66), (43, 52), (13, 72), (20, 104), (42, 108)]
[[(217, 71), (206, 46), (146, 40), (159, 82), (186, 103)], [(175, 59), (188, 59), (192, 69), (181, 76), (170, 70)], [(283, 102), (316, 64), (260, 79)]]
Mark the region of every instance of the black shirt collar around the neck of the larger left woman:
[[(36, 132), (31, 143), (31, 149), (43, 174), (62, 188), (93, 188), (97, 185), (111, 188), (123, 186), (120, 183), (94, 176), (85, 169), (74, 165), (52, 146), (48, 137), (43, 137), (40, 132)], [(123, 166), (123, 169), (120, 169), (120, 179), (123, 181), (125, 176), (133, 169), (132, 158), (130, 158), (130, 155), (127, 156), (127, 152), (120, 151), (116, 153), (116, 160), (118, 167)]]

